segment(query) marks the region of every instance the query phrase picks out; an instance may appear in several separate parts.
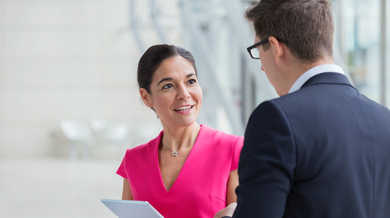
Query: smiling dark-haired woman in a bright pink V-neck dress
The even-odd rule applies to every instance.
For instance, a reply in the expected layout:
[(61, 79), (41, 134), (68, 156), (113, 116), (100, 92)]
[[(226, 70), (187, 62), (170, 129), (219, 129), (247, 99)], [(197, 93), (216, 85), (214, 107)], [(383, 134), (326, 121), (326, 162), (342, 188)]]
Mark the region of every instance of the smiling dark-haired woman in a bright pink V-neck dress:
[(138, 63), (137, 80), (163, 131), (126, 151), (117, 171), (124, 178), (122, 200), (148, 201), (166, 218), (209, 218), (236, 202), (244, 138), (195, 122), (202, 89), (192, 54), (154, 45)]

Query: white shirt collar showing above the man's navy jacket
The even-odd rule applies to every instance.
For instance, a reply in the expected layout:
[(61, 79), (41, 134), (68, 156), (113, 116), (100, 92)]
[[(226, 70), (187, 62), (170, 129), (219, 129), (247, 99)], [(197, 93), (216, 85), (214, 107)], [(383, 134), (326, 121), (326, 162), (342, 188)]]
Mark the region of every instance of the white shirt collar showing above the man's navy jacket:
[(341, 74), (345, 75), (344, 71), (342, 70), (342, 68), (339, 65), (326, 64), (326, 65), (315, 66), (315, 67), (311, 68), (310, 70), (306, 71), (305, 73), (303, 73), (294, 82), (293, 86), (291, 86), (289, 94), (291, 92), (298, 91), (302, 87), (302, 85), (305, 84), (305, 82), (307, 82), (307, 80), (314, 77), (315, 75), (320, 74), (320, 73), (326, 73), (326, 72), (341, 73)]

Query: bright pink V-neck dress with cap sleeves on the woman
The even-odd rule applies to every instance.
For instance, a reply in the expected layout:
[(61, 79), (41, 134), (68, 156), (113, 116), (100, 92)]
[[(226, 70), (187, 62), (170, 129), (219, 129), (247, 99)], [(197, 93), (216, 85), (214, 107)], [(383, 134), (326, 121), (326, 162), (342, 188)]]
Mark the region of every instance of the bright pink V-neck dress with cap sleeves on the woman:
[(169, 191), (158, 165), (163, 131), (149, 143), (126, 151), (117, 174), (129, 180), (134, 200), (148, 201), (165, 218), (212, 218), (226, 207), (229, 173), (238, 167), (244, 137), (201, 126)]

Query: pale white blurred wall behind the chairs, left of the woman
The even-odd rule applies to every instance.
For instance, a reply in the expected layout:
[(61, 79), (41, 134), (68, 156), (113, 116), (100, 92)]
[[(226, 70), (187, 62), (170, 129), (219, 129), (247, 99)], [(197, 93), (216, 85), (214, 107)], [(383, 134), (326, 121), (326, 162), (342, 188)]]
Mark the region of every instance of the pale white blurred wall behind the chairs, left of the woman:
[(138, 97), (128, 4), (0, 0), (0, 157), (66, 155), (62, 119), (160, 128)]

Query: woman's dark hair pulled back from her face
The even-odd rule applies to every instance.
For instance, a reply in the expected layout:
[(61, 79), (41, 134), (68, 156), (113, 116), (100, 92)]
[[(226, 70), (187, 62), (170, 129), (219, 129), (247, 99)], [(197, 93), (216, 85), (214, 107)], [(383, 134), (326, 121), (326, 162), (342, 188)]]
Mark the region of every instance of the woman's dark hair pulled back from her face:
[(145, 53), (140, 58), (140, 61), (138, 62), (138, 87), (145, 88), (146, 91), (150, 93), (149, 87), (152, 83), (152, 77), (154, 72), (161, 65), (161, 63), (163, 63), (163, 61), (174, 56), (182, 56), (183, 58), (190, 61), (191, 65), (195, 69), (195, 75), (198, 76), (195, 66), (195, 59), (192, 56), (191, 52), (176, 45), (153, 45), (145, 51)]

